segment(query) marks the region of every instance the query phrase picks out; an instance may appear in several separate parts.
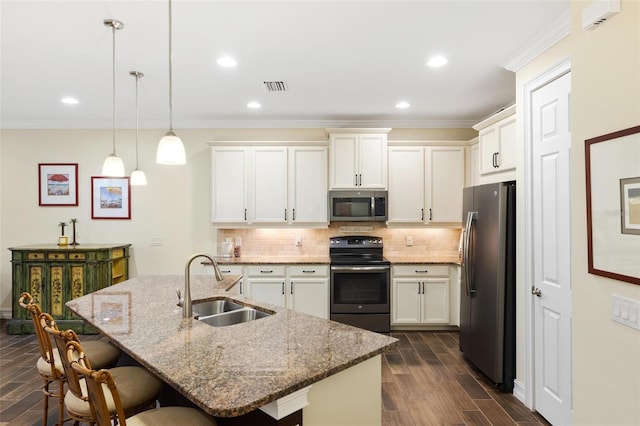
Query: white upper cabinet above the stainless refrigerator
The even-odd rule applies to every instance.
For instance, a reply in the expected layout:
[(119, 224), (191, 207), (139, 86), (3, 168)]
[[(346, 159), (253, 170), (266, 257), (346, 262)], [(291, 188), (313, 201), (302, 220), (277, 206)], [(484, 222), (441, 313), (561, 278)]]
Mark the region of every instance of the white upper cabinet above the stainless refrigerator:
[(500, 111), (473, 128), (479, 132), (480, 175), (514, 170), (516, 167), (515, 106)]

